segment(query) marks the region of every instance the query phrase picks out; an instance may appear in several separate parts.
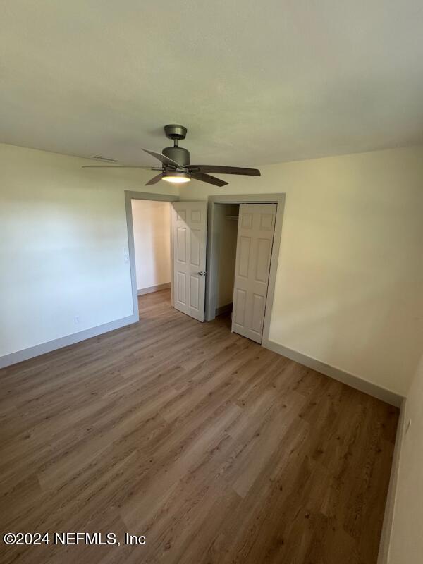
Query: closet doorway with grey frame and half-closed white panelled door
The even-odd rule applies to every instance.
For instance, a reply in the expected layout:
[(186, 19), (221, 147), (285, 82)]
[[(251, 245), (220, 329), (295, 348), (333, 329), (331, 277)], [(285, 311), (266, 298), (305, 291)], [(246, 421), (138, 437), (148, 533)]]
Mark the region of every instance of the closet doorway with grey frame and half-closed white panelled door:
[(232, 312), (232, 330), (264, 346), (284, 203), (284, 194), (209, 197), (205, 319)]

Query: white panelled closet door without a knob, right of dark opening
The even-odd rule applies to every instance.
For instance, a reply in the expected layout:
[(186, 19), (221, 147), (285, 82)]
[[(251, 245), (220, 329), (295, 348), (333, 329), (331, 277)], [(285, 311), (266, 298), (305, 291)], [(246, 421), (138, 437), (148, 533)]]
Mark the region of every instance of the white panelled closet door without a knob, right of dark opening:
[(276, 204), (240, 204), (232, 331), (262, 343)]

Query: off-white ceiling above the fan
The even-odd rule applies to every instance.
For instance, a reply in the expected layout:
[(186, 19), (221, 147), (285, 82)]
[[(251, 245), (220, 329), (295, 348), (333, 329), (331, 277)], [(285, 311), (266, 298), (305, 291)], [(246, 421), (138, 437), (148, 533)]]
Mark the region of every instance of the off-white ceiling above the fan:
[(0, 140), (259, 165), (423, 142), (422, 0), (6, 0)]

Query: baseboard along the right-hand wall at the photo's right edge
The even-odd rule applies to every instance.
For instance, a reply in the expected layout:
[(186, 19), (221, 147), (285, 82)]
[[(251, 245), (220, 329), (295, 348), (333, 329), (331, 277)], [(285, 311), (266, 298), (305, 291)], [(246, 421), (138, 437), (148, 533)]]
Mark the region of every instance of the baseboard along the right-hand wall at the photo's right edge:
[(393, 511), (396, 503), (396, 489), (398, 482), (398, 472), (400, 470), (401, 450), (403, 448), (403, 438), (405, 431), (405, 409), (407, 398), (404, 398), (401, 405), (400, 418), (393, 450), (391, 478), (389, 479), (388, 495), (386, 496), (384, 525), (382, 526), (381, 541), (379, 543), (379, 555), (377, 564), (388, 564), (389, 546), (391, 544), (391, 534), (393, 526)]

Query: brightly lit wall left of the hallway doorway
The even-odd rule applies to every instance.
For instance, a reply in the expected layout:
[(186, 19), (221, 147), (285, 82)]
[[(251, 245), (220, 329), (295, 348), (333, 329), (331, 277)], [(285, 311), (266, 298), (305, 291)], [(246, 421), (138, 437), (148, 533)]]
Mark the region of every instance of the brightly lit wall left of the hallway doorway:
[(0, 145), (0, 357), (133, 314), (124, 190), (176, 189), (82, 164)]

